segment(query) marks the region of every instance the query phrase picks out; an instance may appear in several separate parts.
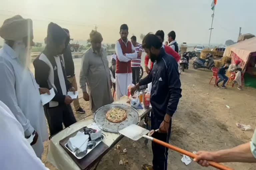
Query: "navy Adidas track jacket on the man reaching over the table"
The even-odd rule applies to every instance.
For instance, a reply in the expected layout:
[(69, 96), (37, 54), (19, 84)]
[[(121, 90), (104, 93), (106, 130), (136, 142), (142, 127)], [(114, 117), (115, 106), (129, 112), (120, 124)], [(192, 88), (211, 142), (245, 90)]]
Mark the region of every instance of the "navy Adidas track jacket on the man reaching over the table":
[(156, 116), (163, 118), (165, 114), (173, 116), (181, 97), (180, 75), (177, 61), (162, 48), (154, 62), (153, 68), (139, 85), (152, 82), (150, 103)]

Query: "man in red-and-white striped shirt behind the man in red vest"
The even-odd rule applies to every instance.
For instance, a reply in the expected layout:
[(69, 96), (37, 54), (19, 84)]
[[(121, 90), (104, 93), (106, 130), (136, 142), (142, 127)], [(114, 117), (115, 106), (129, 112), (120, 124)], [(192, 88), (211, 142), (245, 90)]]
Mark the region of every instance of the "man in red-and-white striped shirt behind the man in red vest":
[(140, 43), (137, 42), (137, 38), (135, 36), (131, 37), (131, 42), (134, 46), (135, 51), (138, 53), (136, 59), (132, 59), (131, 67), (132, 67), (132, 83), (137, 84), (140, 80), (140, 62), (141, 62), (141, 53), (143, 48)]

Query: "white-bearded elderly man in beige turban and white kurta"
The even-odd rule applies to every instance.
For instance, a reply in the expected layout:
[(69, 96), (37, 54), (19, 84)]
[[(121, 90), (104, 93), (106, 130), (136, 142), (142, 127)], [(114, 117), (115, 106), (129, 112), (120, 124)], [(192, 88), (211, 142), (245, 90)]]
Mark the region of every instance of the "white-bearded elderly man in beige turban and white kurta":
[(0, 49), (0, 100), (10, 108), (41, 158), (48, 131), (40, 94), (49, 94), (49, 90), (39, 88), (27, 65), (34, 44), (32, 20), (20, 15), (9, 18), (0, 27), (0, 36), (5, 40)]

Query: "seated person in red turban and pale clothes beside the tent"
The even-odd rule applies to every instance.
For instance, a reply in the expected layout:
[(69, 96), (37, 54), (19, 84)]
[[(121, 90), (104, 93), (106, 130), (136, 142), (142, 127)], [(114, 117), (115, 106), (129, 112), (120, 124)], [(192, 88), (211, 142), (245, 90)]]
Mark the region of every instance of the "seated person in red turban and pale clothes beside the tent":
[(235, 60), (235, 63), (234, 63), (234, 64), (231, 64), (231, 65), (229, 66), (228, 71), (229, 71), (229, 72), (233, 72), (233, 73), (236, 74), (235, 79), (234, 79), (234, 84), (237, 83), (237, 85), (238, 85), (237, 88), (238, 88), (239, 90), (242, 90), (242, 76), (241, 76), (241, 74), (242, 74), (242, 69), (241, 69), (241, 67), (239, 66), (240, 62), (241, 62), (240, 60)]

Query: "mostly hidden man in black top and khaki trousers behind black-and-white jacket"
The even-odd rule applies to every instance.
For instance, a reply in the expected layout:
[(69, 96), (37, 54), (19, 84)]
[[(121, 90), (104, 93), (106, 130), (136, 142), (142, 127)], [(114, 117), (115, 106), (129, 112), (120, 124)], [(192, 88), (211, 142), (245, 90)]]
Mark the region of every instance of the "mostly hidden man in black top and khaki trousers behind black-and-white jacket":
[[(74, 61), (72, 58), (69, 40), (70, 35), (68, 29), (63, 28), (64, 31), (66, 31), (68, 38), (66, 41), (66, 49), (64, 50), (63, 57), (64, 57), (64, 63), (65, 63), (65, 71), (67, 74), (68, 81), (73, 85), (75, 90), (77, 91), (77, 83), (76, 83), (76, 76), (75, 76), (75, 67), (74, 67)], [(77, 99), (74, 99), (73, 105), (75, 108), (76, 113), (85, 113), (85, 111), (80, 107), (78, 96)]]

